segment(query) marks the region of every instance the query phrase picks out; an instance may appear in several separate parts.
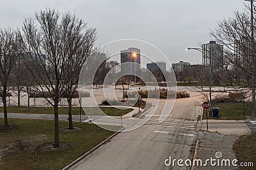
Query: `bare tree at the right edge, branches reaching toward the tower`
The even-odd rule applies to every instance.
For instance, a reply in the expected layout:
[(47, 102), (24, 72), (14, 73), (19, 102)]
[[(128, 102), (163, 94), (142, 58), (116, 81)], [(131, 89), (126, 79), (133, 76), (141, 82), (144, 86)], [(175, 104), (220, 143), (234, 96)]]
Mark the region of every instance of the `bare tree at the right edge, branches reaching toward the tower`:
[[(256, 85), (256, 44), (255, 23), (256, 8), (253, 8), (251, 18), (250, 8), (246, 6), (243, 12), (235, 11), (234, 17), (218, 22), (211, 36), (225, 46), (225, 60), (230, 64), (230, 80), (236, 80), (240, 87), (250, 89), (252, 102), (255, 105)], [(254, 34), (252, 34), (254, 30)], [(253, 35), (253, 37), (252, 37)], [(253, 94), (254, 93), (254, 94)]]

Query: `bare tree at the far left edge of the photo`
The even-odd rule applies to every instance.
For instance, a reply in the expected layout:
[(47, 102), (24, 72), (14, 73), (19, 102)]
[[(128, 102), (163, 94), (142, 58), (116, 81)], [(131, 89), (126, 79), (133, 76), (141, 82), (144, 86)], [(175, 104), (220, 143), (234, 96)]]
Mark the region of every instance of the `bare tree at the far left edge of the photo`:
[(8, 127), (6, 96), (8, 83), (13, 74), (17, 58), (17, 32), (11, 29), (0, 30), (0, 81), (1, 98), (4, 106), (4, 127)]

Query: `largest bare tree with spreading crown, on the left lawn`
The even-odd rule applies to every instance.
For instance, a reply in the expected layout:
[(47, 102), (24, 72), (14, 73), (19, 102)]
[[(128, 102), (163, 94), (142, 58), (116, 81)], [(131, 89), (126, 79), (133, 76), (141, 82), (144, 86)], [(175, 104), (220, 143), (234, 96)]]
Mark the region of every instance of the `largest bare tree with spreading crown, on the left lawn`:
[(76, 15), (60, 15), (54, 9), (39, 11), (23, 23), (24, 63), (35, 79), (34, 88), (54, 108), (54, 147), (60, 146), (58, 106), (61, 96), (76, 83), (71, 79), (77, 70), (67, 72), (66, 67), (84, 47), (88, 39), (85, 29), (86, 23)]

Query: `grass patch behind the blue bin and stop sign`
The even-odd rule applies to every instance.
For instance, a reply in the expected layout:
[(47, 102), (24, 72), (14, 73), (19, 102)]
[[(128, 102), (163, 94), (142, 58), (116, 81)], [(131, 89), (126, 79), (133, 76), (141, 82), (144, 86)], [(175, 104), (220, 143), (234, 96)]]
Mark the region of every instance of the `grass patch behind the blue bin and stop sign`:
[[(244, 115), (250, 115), (250, 103), (218, 103), (214, 104), (212, 108), (220, 108), (220, 117), (208, 117), (209, 119), (223, 119), (223, 120), (244, 120)], [(245, 110), (244, 110), (245, 109)], [(245, 111), (245, 112), (244, 112)], [(209, 114), (209, 111), (207, 111)], [(245, 114), (244, 114), (245, 113)], [(203, 118), (206, 118), (205, 110)]]

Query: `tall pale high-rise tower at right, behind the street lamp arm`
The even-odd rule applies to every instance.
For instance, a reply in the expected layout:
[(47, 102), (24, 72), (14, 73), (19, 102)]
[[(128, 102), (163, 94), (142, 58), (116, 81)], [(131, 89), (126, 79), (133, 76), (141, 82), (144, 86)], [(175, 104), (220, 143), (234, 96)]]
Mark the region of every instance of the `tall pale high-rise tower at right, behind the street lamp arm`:
[[(219, 73), (223, 70), (223, 45), (217, 44), (216, 41), (210, 41), (202, 46), (203, 65), (209, 66), (211, 58), (211, 72)], [(210, 71), (210, 70), (209, 70)]]

